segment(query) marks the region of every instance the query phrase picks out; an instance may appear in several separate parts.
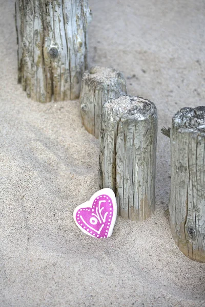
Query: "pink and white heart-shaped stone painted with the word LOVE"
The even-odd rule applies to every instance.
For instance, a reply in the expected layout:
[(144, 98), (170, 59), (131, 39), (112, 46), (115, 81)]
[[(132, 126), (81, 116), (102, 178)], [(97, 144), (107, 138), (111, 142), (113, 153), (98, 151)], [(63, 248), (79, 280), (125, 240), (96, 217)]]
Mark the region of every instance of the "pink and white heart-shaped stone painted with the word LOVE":
[(77, 206), (74, 221), (81, 231), (96, 238), (112, 235), (117, 216), (117, 203), (113, 190), (97, 191), (90, 201)]

